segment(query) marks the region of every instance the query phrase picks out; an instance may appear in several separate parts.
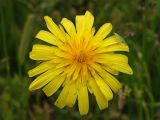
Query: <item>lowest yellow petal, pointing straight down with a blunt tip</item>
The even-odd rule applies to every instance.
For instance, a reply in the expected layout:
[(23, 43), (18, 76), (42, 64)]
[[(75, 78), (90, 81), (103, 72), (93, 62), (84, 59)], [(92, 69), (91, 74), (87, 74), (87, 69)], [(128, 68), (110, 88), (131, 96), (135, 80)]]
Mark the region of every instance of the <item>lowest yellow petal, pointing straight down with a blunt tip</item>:
[(81, 115), (86, 115), (89, 110), (88, 90), (86, 86), (82, 86), (78, 91), (78, 108)]

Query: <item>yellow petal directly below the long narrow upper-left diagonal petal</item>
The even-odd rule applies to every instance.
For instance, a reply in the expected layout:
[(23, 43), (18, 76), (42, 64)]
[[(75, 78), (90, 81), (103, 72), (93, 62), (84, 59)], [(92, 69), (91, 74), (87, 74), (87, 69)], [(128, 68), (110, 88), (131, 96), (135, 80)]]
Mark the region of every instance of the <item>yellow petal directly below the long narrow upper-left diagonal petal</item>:
[(47, 43), (50, 43), (52, 45), (61, 45), (62, 44), (61, 41), (56, 38), (56, 36), (54, 36), (52, 33), (48, 32), (48, 31), (44, 31), (44, 30), (41, 30), (36, 35), (36, 38), (43, 40)]

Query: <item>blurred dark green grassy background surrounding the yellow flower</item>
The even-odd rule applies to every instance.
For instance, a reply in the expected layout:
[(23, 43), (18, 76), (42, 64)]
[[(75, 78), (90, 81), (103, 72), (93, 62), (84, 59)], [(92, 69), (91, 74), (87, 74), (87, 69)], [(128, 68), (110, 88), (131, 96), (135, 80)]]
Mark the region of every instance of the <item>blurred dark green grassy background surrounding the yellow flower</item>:
[[(55, 107), (57, 95), (30, 93), (27, 71), (36, 66), (28, 52), (38, 42), (36, 33), (46, 29), (43, 16), (74, 21), (86, 10), (96, 28), (111, 22), (113, 32), (125, 38), (134, 75), (120, 74), (123, 88), (106, 110), (90, 96), (90, 112), (81, 117), (77, 105)], [(64, 119), (160, 120), (160, 0), (0, 0), (0, 120)]]

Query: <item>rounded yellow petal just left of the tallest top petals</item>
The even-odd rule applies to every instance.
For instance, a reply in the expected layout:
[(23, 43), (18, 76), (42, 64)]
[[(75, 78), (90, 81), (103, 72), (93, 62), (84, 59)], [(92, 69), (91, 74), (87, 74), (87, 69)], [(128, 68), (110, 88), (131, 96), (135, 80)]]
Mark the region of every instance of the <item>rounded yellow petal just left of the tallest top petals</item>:
[(71, 37), (75, 37), (76, 29), (74, 24), (70, 20), (68, 20), (67, 18), (63, 18), (61, 24)]

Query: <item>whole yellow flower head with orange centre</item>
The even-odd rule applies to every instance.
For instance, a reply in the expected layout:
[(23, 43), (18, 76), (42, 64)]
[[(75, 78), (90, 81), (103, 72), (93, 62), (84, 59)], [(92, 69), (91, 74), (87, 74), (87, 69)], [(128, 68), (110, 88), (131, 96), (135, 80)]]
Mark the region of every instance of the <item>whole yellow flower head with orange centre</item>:
[(112, 91), (116, 93), (121, 88), (112, 75), (133, 74), (127, 56), (117, 53), (129, 52), (127, 44), (117, 34), (107, 37), (111, 23), (105, 23), (95, 33), (94, 17), (89, 11), (76, 16), (75, 25), (67, 18), (59, 26), (48, 16), (44, 19), (50, 32), (41, 30), (36, 38), (48, 44), (34, 45), (29, 54), (31, 59), (41, 61), (28, 72), (29, 77), (41, 74), (29, 90), (42, 88), (51, 96), (61, 88), (55, 105), (72, 107), (77, 100), (81, 115), (89, 110), (88, 91), (94, 94), (101, 110), (107, 108)]

